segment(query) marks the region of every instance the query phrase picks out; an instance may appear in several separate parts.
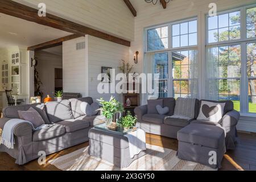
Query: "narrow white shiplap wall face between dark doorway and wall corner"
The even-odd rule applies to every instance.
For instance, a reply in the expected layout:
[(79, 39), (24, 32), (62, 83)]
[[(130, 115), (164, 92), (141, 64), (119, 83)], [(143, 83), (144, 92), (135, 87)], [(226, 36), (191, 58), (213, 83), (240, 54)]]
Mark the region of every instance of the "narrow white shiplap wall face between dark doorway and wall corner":
[(86, 81), (86, 51), (76, 50), (76, 44), (85, 42), (85, 37), (63, 42), (63, 91), (81, 93), (88, 96)]

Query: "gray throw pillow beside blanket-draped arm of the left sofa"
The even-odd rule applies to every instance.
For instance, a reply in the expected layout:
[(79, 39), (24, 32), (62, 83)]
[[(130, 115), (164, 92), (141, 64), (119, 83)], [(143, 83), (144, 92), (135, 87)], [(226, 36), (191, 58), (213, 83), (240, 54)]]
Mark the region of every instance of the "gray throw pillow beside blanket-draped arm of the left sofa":
[(27, 111), (18, 110), (18, 113), (20, 119), (31, 122), (35, 129), (45, 124), (42, 116), (33, 107)]

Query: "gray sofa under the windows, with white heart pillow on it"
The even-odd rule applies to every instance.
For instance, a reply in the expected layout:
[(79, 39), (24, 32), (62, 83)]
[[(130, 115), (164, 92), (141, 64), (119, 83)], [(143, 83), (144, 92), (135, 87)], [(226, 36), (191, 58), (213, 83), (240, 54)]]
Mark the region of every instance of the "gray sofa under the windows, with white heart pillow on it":
[[(201, 101), (196, 100), (195, 104), (195, 118), (191, 121), (186, 121), (184, 119), (174, 119), (167, 118), (166, 116), (170, 116), (174, 114), (175, 109), (175, 99), (174, 98), (161, 98), (163, 99), (163, 106), (169, 107), (170, 112), (167, 115), (159, 115), (159, 114), (148, 114), (148, 106), (143, 105), (135, 108), (134, 113), (137, 115), (138, 122), (137, 126), (141, 127), (146, 133), (162, 135), (164, 137), (175, 138), (177, 139), (177, 132), (183, 129), (185, 126), (188, 126), (190, 123), (200, 123), (203, 125), (215, 125), (218, 127), (222, 127), (225, 130), (225, 144), (226, 148), (233, 150), (237, 137), (236, 125), (240, 118), (240, 113), (234, 110), (234, 105), (232, 101), (210, 101), (210, 102), (225, 102), (224, 108), (224, 116), (221, 121), (218, 123), (209, 122), (209, 121), (199, 121), (196, 120), (199, 115), (199, 110), (201, 106)], [(203, 101), (203, 100), (202, 100)], [(204, 100), (208, 101), (208, 100)]]

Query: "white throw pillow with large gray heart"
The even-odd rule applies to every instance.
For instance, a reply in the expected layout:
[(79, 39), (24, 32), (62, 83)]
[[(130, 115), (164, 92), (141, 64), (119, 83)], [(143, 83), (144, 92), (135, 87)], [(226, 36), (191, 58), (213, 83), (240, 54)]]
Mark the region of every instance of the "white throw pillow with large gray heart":
[(197, 120), (220, 122), (224, 113), (225, 103), (202, 101)]

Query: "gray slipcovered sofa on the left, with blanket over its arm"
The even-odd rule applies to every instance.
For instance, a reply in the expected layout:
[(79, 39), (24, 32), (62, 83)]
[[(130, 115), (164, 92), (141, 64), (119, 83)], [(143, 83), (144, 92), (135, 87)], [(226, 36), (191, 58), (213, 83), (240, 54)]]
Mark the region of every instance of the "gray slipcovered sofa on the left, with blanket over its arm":
[(81, 102), (92, 104), (90, 97), (74, 98), (61, 102), (47, 104), (9, 106), (3, 109), (0, 128), (13, 118), (19, 118), (18, 110), (36, 109), (46, 124), (54, 124), (46, 129), (32, 131), (31, 125), (22, 123), (15, 127), (14, 149), (8, 149), (2, 144), (0, 152), (7, 152), (16, 159), (16, 164), (25, 164), (39, 158), (38, 152), (45, 151), (46, 155), (64, 150), (89, 140), (89, 130), (104, 119), (101, 115), (86, 117), (80, 109)]

